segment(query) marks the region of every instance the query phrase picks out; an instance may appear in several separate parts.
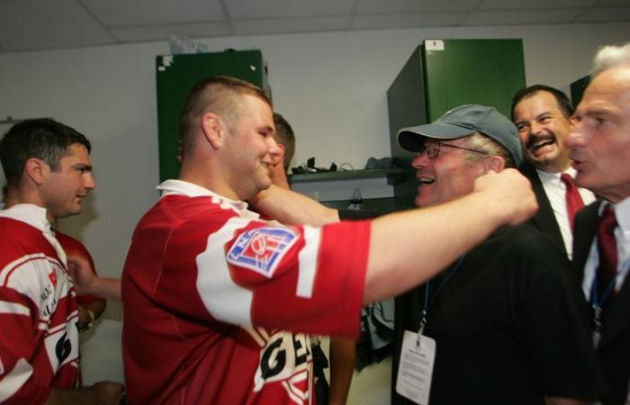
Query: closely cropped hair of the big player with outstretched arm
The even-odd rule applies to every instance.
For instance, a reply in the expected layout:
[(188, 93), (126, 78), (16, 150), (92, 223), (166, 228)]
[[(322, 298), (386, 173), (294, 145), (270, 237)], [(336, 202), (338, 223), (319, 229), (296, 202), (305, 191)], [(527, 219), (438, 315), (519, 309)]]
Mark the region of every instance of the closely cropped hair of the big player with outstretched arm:
[(206, 112), (214, 112), (233, 130), (240, 113), (238, 98), (253, 95), (272, 106), (265, 92), (256, 85), (230, 76), (213, 76), (197, 82), (184, 100), (179, 119), (179, 136), (182, 155), (190, 152), (194, 145), (194, 129), (199, 118)]

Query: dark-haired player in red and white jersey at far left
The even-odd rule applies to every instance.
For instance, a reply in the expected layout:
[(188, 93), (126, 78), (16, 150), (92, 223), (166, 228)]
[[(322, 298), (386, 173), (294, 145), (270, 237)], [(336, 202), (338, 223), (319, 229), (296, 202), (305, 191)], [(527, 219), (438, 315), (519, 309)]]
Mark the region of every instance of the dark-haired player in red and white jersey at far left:
[[(0, 141), (12, 206), (0, 211), (0, 402), (117, 404), (122, 386), (78, 387), (79, 318), (67, 255), (50, 218), (81, 211), (93, 188), (90, 143), (49, 119)], [(89, 271), (92, 271), (91, 269)]]

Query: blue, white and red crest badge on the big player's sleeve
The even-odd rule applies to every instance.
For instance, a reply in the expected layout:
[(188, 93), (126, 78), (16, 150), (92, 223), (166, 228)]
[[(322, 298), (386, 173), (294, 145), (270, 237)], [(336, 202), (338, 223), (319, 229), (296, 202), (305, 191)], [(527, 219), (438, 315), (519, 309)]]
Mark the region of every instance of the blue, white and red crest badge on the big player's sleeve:
[(241, 234), (230, 247), (228, 262), (271, 277), (298, 236), (286, 228), (257, 228)]

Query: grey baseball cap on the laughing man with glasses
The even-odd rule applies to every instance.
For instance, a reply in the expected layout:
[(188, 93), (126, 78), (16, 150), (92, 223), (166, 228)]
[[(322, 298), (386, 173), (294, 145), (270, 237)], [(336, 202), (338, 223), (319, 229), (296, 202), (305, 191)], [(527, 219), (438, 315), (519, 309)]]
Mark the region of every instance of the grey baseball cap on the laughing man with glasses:
[(460, 105), (435, 122), (403, 128), (398, 131), (398, 144), (410, 152), (421, 152), (424, 150), (424, 137), (455, 139), (474, 132), (481, 132), (499, 142), (509, 151), (517, 166), (523, 161), (517, 127), (494, 107), (479, 104)]

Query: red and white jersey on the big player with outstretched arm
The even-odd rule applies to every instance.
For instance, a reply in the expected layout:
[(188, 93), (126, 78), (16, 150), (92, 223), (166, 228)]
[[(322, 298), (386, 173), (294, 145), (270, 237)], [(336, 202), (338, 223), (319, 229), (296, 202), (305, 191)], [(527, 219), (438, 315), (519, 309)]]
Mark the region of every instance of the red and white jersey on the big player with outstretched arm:
[(356, 337), (369, 222), (257, 219), (182, 181), (140, 220), (122, 274), (130, 404), (307, 404), (302, 333)]

